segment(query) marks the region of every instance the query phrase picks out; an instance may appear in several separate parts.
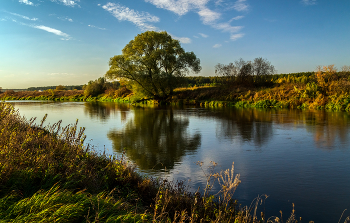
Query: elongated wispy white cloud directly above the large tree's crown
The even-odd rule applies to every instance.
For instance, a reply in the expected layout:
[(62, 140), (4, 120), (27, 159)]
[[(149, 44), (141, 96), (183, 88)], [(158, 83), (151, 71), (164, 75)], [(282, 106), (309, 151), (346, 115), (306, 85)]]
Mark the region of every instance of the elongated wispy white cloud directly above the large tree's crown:
[(157, 30), (157, 27), (149, 24), (149, 22), (159, 22), (159, 18), (148, 12), (140, 13), (128, 7), (110, 2), (102, 6), (102, 8), (110, 12), (119, 21), (132, 22), (142, 30)]

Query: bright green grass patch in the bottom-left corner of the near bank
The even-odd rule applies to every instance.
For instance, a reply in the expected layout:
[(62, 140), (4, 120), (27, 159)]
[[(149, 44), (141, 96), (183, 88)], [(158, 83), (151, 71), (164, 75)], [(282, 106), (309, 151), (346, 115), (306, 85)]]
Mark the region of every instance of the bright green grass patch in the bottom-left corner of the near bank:
[(0, 199), (0, 220), (4, 222), (135, 222), (141, 215), (123, 208), (106, 192), (97, 195), (85, 191), (73, 193), (55, 185), (31, 197), (13, 193)]

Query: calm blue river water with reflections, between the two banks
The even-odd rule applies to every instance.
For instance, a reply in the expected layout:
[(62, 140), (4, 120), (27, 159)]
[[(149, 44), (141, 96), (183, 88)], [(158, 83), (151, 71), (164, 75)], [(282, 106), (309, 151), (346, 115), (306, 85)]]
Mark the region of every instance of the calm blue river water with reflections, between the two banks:
[[(231, 168), (242, 183), (235, 198), (284, 219), (292, 211), (303, 222), (338, 222), (350, 209), (350, 114), (346, 112), (132, 107), (89, 102), (11, 102), (21, 115), (46, 123), (63, 120), (86, 127), (86, 143), (127, 158), (139, 171), (182, 180), (196, 191), (203, 170)], [(196, 165), (203, 162), (203, 170)], [(350, 210), (346, 211), (350, 215)], [(344, 222), (344, 218), (341, 222)]]

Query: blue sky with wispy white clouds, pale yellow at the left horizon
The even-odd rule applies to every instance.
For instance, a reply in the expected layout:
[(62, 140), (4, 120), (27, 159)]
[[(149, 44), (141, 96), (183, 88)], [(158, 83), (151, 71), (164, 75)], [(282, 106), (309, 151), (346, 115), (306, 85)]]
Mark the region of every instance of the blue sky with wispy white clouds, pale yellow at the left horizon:
[(81, 85), (147, 30), (215, 65), (262, 57), (277, 73), (350, 65), (350, 0), (1, 0), (0, 87)]

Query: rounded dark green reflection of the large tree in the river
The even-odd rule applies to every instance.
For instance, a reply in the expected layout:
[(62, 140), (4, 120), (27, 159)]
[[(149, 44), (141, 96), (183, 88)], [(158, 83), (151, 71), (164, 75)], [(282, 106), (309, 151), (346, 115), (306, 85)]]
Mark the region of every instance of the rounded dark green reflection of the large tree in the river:
[(122, 152), (143, 170), (171, 170), (175, 163), (201, 145), (199, 133), (190, 134), (189, 119), (174, 115), (170, 108), (134, 110), (134, 118), (122, 130), (112, 130), (108, 138), (114, 150)]

